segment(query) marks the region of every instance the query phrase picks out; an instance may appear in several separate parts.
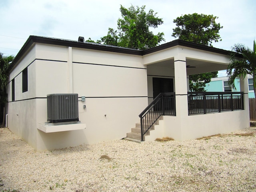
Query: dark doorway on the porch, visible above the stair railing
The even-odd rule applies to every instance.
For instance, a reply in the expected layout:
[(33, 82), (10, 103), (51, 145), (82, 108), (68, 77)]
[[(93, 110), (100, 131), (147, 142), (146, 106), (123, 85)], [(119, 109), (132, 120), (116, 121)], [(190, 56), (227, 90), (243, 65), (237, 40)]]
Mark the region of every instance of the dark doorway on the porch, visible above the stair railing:
[(160, 93), (173, 92), (173, 79), (153, 78), (153, 97), (156, 98)]

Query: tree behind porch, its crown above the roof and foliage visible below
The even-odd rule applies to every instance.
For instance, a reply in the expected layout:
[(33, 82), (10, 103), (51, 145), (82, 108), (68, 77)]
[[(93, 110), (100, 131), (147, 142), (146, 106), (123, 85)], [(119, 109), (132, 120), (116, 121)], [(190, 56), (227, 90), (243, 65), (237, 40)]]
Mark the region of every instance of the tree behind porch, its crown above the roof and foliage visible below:
[[(173, 29), (172, 36), (181, 40), (194, 42), (206, 46), (212, 46), (212, 41), (221, 41), (219, 30), (223, 28), (215, 20), (218, 17), (204, 14), (188, 14), (174, 19), (176, 28)], [(211, 78), (217, 77), (218, 72), (208, 72), (189, 76), (190, 91), (205, 91), (206, 83)]]

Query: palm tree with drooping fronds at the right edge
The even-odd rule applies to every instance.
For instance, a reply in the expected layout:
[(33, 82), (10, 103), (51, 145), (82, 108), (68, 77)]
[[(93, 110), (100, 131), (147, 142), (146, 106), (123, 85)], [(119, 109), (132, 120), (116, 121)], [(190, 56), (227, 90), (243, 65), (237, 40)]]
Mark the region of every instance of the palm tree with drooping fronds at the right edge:
[[(227, 68), (228, 83), (236, 89), (234, 81), (250, 74), (253, 79), (254, 95), (256, 98), (256, 43), (253, 41), (253, 50), (243, 44), (235, 44), (230, 54), (230, 63)], [(239, 54), (239, 55), (238, 55)], [(241, 57), (239, 57), (241, 56)]]

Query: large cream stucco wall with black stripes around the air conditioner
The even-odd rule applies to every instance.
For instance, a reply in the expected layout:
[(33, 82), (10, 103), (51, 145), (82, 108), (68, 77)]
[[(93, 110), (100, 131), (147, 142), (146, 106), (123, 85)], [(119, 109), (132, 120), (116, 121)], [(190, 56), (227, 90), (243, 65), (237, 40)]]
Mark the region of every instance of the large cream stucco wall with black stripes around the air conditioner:
[[(15, 102), (8, 103), (8, 127), (37, 150), (51, 150), (126, 137), (147, 106), (147, 73), (141, 56), (36, 44), (10, 74)], [(28, 91), (22, 70), (28, 66)], [(9, 101), (12, 85), (8, 84)], [(47, 94), (78, 93), (85, 130), (44, 133)], [(86, 108), (83, 108), (86, 105)], [(105, 116), (106, 115), (106, 116)]]

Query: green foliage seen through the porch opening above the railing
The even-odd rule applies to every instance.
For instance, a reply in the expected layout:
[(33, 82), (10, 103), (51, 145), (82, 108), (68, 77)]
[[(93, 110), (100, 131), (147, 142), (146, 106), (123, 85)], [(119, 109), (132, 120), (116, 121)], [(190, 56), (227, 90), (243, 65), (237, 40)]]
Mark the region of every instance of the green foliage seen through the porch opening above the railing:
[(218, 71), (202, 73), (189, 76), (189, 89), (190, 91), (203, 92), (205, 84), (211, 81), (211, 78), (217, 77)]

